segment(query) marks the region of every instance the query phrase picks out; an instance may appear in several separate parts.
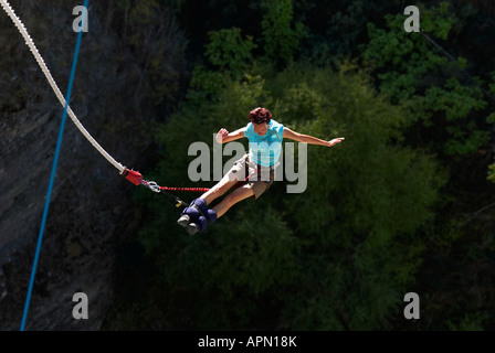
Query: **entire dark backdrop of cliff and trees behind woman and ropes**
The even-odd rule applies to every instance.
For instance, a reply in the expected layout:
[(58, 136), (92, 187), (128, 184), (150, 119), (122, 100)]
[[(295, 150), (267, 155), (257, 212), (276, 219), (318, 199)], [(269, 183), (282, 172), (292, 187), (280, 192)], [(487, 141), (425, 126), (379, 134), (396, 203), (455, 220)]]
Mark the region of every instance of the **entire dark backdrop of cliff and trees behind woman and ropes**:
[[(65, 93), (77, 1), (10, 1)], [(407, 33), (407, 6), (421, 32)], [(124, 165), (191, 182), (267, 107), (308, 146), (275, 183), (188, 236), (67, 121), (27, 330), (495, 329), (492, 1), (89, 1), (71, 107)], [(0, 17), (0, 329), (19, 330), (62, 107)], [(223, 160), (227, 161), (228, 158)], [(179, 192), (190, 201), (199, 194)], [(89, 319), (72, 318), (72, 296)], [(403, 315), (407, 292), (421, 318)]]

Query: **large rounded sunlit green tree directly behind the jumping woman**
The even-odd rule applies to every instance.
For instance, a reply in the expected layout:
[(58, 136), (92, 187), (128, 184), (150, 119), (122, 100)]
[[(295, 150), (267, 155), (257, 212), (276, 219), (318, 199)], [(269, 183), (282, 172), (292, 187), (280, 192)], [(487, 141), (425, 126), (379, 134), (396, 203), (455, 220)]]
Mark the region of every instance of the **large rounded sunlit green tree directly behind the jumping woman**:
[(143, 194), (140, 238), (160, 269), (161, 301), (152, 302), (175, 329), (386, 328), (421, 263), (418, 235), (434, 215), (442, 174), (398, 143), (403, 111), (377, 99), (362, 76), (296, 65), (266, 78), (228, 81), (217, 101), (173, 115), (159, 128), (155, 180), (198, 186), (188, 182), (189, 145), (212, 147), (220, 127), (244, 126), (255, 106), (273, 106), (298, 131), (346, 141), (308, 147), (304, 193), (276, 182), (197, 237), (172, 226), (179, 212), (169, 200)]

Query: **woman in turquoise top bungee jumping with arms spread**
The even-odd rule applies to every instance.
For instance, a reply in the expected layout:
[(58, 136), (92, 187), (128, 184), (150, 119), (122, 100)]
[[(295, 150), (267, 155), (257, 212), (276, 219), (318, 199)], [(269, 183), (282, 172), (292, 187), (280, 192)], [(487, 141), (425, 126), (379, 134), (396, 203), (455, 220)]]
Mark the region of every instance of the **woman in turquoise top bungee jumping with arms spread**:
[[(272, 119), (266, 108), (255, 108), (249, 114), (250, 122), (233, 132), (221, 128), (217, 133), (218, 143), (227, 143), (242, 137), (249, 140), (249, 152), (234, 162), (229, 172), (209, 191), (193, 200), (186, 207), (177, 223), (185, 227), (188, 234), (203, 232), (209, 224), (220, 218), (238, 202), (247, 197), (257, 200), (274, 180), (275, 168), (282, 151), (283, 138), (303, 143), (333, 147), (344, 140), (343, 137), (325, 141), (313, 136), (291, 130)], [(209, 208), (215, 199), (224, 195), (238, 183), (241, 186), (233, 190), (214, 207)]]

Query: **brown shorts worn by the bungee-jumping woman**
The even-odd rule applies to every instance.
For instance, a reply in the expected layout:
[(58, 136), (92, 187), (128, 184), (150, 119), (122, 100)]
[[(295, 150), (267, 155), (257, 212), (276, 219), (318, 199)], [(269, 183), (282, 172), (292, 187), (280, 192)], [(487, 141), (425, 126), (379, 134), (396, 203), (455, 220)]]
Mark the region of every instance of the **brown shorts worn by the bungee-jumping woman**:
[[(254, 200), (260, 197), (273, 183), (275, 170), (250, 161), (249, 154), (244, 154), (234, 162), (227, 175), (231, 181), (242, 182), (243, 188), (253, 190)], [(249, 179), (247, 179), (249, 176)]]

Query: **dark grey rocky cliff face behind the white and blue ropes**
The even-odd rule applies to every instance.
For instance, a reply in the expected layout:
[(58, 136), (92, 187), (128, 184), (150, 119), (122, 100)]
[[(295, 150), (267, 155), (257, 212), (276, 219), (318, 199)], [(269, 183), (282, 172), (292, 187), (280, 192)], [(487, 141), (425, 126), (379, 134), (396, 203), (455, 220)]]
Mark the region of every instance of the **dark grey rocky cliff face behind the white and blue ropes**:
[[(72, 10), (81, 3), (10, 3), (65, 95), (77, 38)], [(145, 172), (152, 138), (146, 122), (156, 117), (144, 97), (152, 87), (113, 30), (114, 3), (89, 8), (71, 107), (109, 154)], [(63, 107), (3, 11), (0, 53), (0, 330), (19, 330)], [(167, 65), (180, 75), (181, 56)], [(139, 226), (135, 188), (67, 116), (25, 330), (101, 329), (114, 295), (115, 248), (135, 238)], [(72, 315), (80, 291), (88, 297), (87, 320)]]

